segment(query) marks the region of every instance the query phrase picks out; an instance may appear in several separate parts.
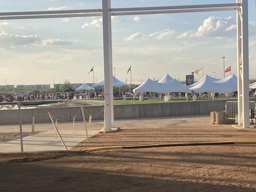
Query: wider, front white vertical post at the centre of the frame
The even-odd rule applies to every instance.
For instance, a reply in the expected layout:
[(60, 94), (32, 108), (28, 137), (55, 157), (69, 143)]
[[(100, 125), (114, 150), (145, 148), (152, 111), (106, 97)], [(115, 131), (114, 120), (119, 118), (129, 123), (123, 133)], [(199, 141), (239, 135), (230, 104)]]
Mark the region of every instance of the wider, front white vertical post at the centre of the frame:
[[(112, 112), (111, 112), (111, 90), (113, 83), (110, 76), (110, 22), (108, 0), (102, 0), (102, 24), (103, 24), (103, 57), (104, 57), (104, 88), (105, 88), (105, 126), (106, 131), (112, 128)], [(112, 72), (111, 72), (112, 74)], [(112, 87), (112, 88), (111, 88)], [(113, 91), (112, 91), (113, 94)]]

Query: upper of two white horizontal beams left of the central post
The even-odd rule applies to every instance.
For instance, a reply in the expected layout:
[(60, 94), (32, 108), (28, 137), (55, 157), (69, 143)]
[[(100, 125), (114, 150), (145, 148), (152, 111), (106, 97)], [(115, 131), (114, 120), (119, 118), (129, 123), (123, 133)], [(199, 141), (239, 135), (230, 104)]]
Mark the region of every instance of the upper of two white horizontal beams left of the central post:
[(70, 13), (93, 13), (93, 12), (101, 12), (101, 9), (35, 11), (35, 12), (0, 12), (0, 16), (70, 14)]

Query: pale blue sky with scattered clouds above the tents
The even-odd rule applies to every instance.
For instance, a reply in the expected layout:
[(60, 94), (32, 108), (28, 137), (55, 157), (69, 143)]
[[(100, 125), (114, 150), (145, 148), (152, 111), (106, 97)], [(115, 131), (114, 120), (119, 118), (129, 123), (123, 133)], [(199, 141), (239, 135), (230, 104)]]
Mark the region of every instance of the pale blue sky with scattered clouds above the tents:
[[(235, 0), (111, 0), (113, 8), (232, 3)], [(100, 0), (0, 0), (0, 12), (98, 9)], [(249, 52), (255, 44), (255, 0), (249, 0)], [(0, 84), (92, 83), (104, 79), (101, 17), (0, 20)], [(236, 73), (236, 12), (112, 17), (113, 68), (118, 79), (176, 79), (204, 68)], [(256, 51), (249, 60), (256, 78)], [(227, 74), (226, 74), (227, 75)], [(201, 78), (200, 74), (199, 78)], [(197, 76), (195, 76), (197, 79)]]

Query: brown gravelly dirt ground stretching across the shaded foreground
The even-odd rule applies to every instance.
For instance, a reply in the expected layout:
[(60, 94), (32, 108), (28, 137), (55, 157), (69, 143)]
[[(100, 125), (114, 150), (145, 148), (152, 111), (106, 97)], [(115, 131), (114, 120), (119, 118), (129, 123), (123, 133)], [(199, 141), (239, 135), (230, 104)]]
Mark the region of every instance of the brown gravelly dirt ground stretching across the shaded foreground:
[[(118, 121), (73, 149), (206, 141), (253, 141), (256, 129), (208, 117)], [(93, 153), (1, 154), (2, 192), (256, 192), (256, 145), (179, 146)]]

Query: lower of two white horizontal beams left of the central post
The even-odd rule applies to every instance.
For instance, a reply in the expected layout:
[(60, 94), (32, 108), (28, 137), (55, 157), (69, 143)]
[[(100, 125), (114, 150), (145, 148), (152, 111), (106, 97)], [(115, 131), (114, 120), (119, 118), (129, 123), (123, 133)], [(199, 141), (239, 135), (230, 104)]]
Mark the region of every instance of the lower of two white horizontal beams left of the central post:
[(99, 13), (74, 13), (74, 14), (54, 14), (54, 15), (20, 15), (20, 16), (0, 16), (0, 20), (16, 19), (49, 19), (49, 18), (66, 18), (66, 17), (97, 17)]

